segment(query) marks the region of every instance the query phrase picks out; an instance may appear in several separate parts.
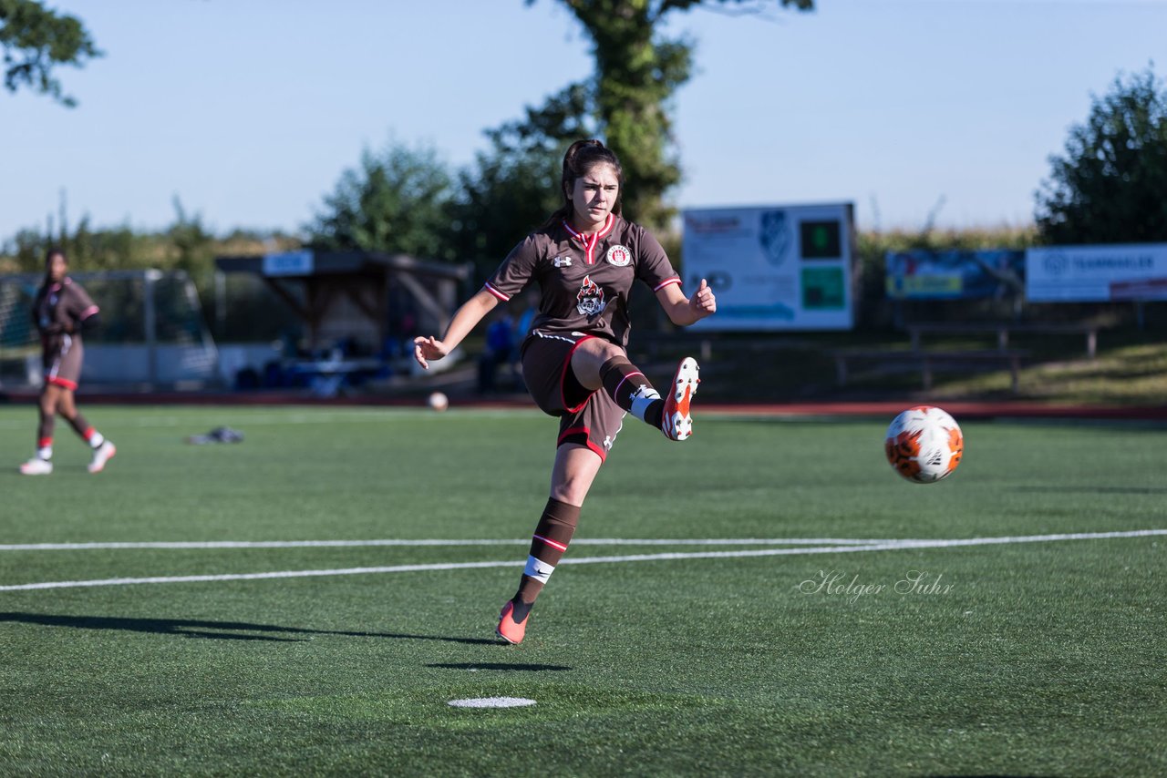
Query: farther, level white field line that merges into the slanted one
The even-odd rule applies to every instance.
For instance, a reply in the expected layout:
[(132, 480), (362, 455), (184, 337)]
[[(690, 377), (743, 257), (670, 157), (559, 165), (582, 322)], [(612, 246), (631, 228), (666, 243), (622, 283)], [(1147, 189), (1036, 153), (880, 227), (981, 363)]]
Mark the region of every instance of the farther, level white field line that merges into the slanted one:
[[(484, 539), (386, 539), (386, 540), (149, 540), (140, 542), (11, 544), (6, 551), (106, 551), (135, 548), (358, 548), (365, 546), (526, 546), (530, 538)], [(572, 546), (867, 546), (886, 542), (879, 538), (576, 538)]]

